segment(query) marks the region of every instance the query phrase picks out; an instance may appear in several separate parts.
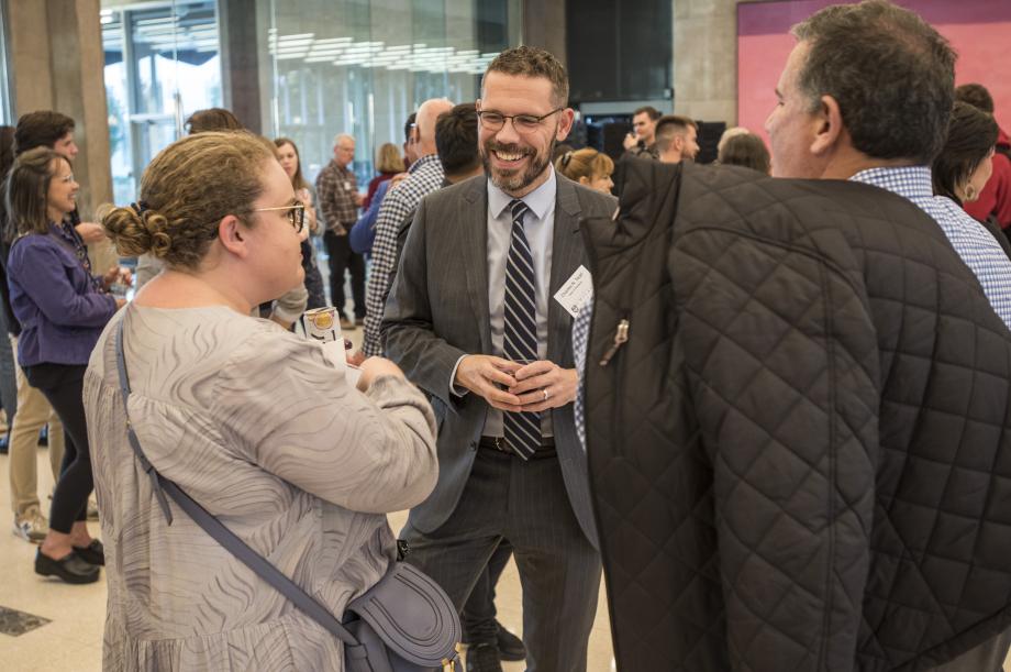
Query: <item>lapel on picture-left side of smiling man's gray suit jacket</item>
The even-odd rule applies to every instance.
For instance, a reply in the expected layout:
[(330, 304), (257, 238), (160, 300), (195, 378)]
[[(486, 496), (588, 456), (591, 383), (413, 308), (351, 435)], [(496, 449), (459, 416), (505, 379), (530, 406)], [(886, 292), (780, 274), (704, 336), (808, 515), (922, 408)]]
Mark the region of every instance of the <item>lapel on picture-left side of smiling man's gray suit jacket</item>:
[[(459, 199), (457, 221), (464, 235), (467, 294), (481, 333), (481, 352), (491, 353), (491, 317), (488, 309), (488, 188), (484, 178), (470, 180)], [(453, 263), (445, 260), (446, 263)]]

